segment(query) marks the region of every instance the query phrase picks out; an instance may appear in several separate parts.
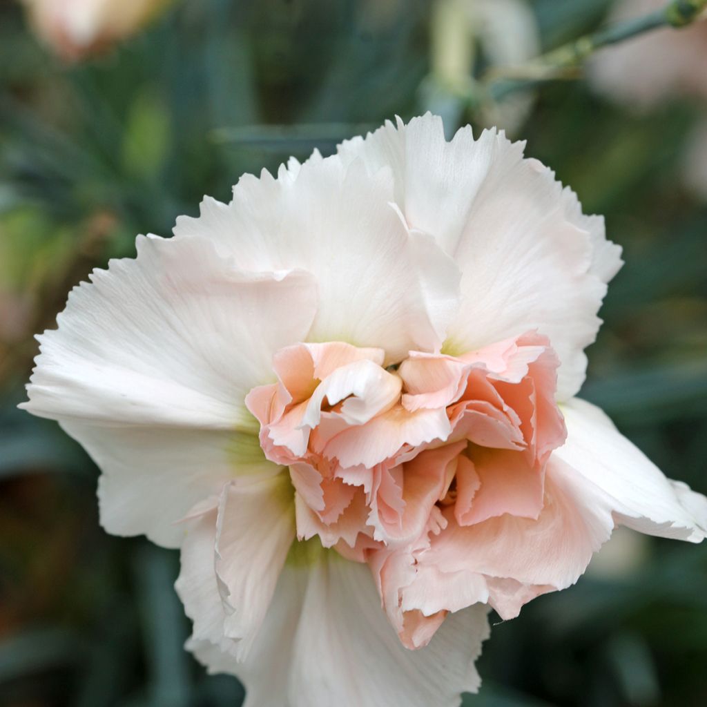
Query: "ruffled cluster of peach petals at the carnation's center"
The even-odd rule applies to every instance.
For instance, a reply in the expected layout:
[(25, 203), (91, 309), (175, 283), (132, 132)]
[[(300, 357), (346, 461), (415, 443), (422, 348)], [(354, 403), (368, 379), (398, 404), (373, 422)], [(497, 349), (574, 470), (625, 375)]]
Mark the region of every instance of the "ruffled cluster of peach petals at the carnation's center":
[(463, 356), (384, 361), (341, 342), (288, 346), (274, 357), (277, 382), (246, 404), (267, 458), (290, 469), (298, 538), (367, 562), (402, 641), (419, 648), (448, 612), (489, 592), (505, 607), (547, 590), (425, 558), (450, 524), (539, 518), (547, 460), (566, 436), (559, 361), (535, 332)]

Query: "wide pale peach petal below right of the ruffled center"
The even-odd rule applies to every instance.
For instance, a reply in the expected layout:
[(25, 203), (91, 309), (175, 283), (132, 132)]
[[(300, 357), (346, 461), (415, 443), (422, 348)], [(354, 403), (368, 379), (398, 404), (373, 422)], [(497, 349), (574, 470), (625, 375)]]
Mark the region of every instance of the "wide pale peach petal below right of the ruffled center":
[(446, 525), (407, 549), (373, 551), (369, 564), (401, 638), (409, 611), (433, 617), (490, 602), (508, 619), (534, 597), (573, 583), (613, 527), (606, 499), (580, 500), (580, 491), (566, 467), (552, 466), (537, 520), (506, 514), (461, 527), (448, 508)]

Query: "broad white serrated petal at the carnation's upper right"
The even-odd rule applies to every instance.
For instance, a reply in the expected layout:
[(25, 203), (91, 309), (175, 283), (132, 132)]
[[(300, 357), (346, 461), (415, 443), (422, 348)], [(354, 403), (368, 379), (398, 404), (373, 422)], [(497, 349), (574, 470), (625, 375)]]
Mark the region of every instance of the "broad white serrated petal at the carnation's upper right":
[(441, 120), (385, 124), (340, 148), (370, 173), (390, 167), (395, 201), (411, 228), (431, 233), (462, 270), (462, 304), (448, 349), (462, 353), (529, 329), (547, 334), (562, 362), (558, 397), (579, 390), (585, 346), (594, 341), (606, 283), (621, 266), (601, 218), (581, 213), (575, 194), (523, 144), (470, 128), (451, 142)]

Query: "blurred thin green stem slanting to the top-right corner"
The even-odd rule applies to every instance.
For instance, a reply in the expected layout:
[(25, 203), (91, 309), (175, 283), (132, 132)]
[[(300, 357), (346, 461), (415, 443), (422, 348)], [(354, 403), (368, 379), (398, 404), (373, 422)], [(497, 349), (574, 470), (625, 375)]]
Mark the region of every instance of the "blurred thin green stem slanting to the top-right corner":
[(523, 66), (493, 69), (485, 77), (486, 90), (490, 98), (499, 100), (508, 93), (542, 81), (575, 78), (582, 62), (597, 49), (659, 27), (686, 27), (696, 21), (706, 8), (707, 0), (672, 0), (660, 10), (580, 37)]

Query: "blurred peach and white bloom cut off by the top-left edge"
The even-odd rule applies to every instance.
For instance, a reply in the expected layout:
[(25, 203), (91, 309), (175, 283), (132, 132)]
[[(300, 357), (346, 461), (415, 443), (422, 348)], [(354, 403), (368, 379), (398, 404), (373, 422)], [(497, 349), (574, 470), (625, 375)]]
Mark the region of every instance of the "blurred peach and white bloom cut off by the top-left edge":
[(24, 0), (42, 42), (76, 61), (136, 33), (170, 0)]

